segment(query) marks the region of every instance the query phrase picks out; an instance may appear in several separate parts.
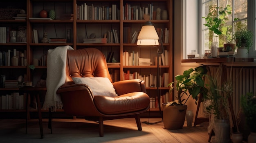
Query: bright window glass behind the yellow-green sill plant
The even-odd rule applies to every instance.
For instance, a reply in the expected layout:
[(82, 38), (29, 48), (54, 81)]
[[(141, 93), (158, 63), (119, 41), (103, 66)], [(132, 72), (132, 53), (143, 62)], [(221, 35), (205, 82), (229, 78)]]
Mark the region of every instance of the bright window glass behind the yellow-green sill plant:
[[(227, 28), (226, 35), (216, 35), (213, 33), (213, 31), (209, 31), (207, 26), (202, 25), (202, 50), (200, 54), (203, 55), (205, 50), (211, 48), (211, 44), (213, 42), (217, 42), (218, 47), (223, 47), (225, 43), (235, 43), (232, 35), (236, 26), (247, 27), (247, 0), (234, 0), (234, 7), (232, 5), (232, 0), (218, 0), (218, 2), (217, 0), (202, 0), (202, 2), (202, 15), (204, 17), (207, 17), (209, 12), (213, 12), (213, 15), (217, 15), (218, 12), (216, 7), (223, 9), (226, 7), (226, 5), (230, 5), (230, 7), (234, 10), (234, 15), (233, 13), (228, 15), (228, 20), (226, 21), (225, 25), (223, 25), (223, 27)], [(204, 19), (202, 22), (203, 24), (207, 23), (207, 21)]]

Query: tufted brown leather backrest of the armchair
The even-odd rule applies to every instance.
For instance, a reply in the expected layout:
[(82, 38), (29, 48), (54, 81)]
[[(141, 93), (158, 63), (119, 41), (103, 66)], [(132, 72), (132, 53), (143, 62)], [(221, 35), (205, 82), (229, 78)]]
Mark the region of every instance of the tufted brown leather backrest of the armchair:
[(105, 55), (96, 48), (67, 50), (66, 81), (74, 84), (72, 77), (107, 77), (111, 82)]

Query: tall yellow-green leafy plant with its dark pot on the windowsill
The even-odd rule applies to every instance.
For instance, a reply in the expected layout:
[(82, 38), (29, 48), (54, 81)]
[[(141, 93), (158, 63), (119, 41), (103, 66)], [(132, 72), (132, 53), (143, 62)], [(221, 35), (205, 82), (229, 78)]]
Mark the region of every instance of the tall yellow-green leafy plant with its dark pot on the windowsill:
[[(217, 13), (217, 10), (218, 13)], [(226, 25), (226, 22), (229, 20), (228, 15), (231, 14), (232, 8), (230, 5), (226, 5), (225, 8), (212, 6), (209, 9), (209, 13), (204, 18), (207, 23), (204, 26), (207, 26), (209, 30), (213, 31), (216, 35), (223, 35), (226, 37), (226, 44), (224, 44), (224, 49), (222, 51), (229, 52), (235, 49), (235, 44), (232, 38), (232, 28), (229, 25)], [(214, 37), (214, 35), (213, 35)], [(215, 43), (216, 41), (213, 41)]]

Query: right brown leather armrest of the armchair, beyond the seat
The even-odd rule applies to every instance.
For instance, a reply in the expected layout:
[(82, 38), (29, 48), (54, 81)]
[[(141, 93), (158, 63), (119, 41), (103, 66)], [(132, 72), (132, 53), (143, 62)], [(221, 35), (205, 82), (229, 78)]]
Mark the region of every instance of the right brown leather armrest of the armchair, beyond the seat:
[(130, 79), (113, 83), (117, 95), (124, 95), (130, 92), (145, 92), (145, 81), (140, 79)]

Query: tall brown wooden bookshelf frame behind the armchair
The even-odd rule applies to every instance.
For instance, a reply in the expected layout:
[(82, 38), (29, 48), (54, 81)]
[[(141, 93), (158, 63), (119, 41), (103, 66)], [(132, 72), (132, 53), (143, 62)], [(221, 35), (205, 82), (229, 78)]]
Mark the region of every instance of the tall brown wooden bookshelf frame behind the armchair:
[[(119, 16), (116, 20), (80, 20), (77, 19), (77, 6), (86, 3), (88, 6), (92, 4), (94, 7), (112, 7), (112, 4), (116, 4), (117, 9), (120, 11)], [(137, 51), (139, 52), (139, 57), (150, 58), (150, 62), (154, 63), (154, 57), (157, 56), (156, 47), (141, 48), (130, 42), (124, 43), (124, 27), (130, 27), (130, 37), (134, 31), (139, 33), (141, 26), (146, 22), (146, 20), (139, 19), (126, 19), (122, 14), (122, 11), (125, 10), (127, 4), (130, 4), (131, 7), (145, 8), (149, 4), (153, 5), (153, 11), (158, 7), (162, 10), (168, 11), (168, 20), (155, 20), (150, 19), (156, 26), (156, 28), (167, 28), (169, 30), (168, 34), (168, 43), (164, 43), (164, 49), (168, 51), (168, 65), (160, 65), (160, 75), (163, 73), (169, 73), (168, 80), (173, 81), (173, 0), (10, 0), (6, 4), (3, 4), (2, 7), (13, 6), (19, 9), (24, 9), (27, 13), (26, 20), (13, 20), (0, 19), (0, 27), (12, 27), (17, 28), (18, 26), (26, 26), (26, 43), (0, 43), (0, 51), (6, 51), (10, 49), (13, 51), (14, 48), (17, 51), (22, 51), (27, 57), (27, 66), (0, 66), (0, 73), (6, 75), (7, 79), (17, 78), (19, 75), (26, 75), (25, 81), (32, 81), (34, 85), (41, 79), (43, 75), (46, 74), (47, 66), (36, 66), (34, 70), (31, 70), (28, 65), (32, 65), (32, 59), (37, 58), (41, 59), (43, 55), (47, 54), (47, 50), (53, 49), (57, 46), (66, 46), (70, 45), (74, 49), (80, 48), (89, 48), (94, 47), (98, 48), (104, 55), (107, 57), (110, 51), (113, 51), (113, 57), (117, 62), (120, 62), (119, 66), (109, 66), (109, 71), (118, 71), (118, 78), (120, 80), (124, 79), (124, 73), (127, 70), (133, 72), (138, 72), (141, 75), (153, 74), (156, 76), (157, 66), (151, 64), (150, 66), (124, 66), (123, 61), (123, 52), (124, 51)], [(39, 13), (42, 9), (45, 9), (48, 13), (50, 10), (54, 9), (56, 15), (59, 13), (72, 13), (74, 14), (73, 20), (29, 20), (29, 18), (39, 18)], [(118, 15), (118, 13), (117, 13)], [(36, 29), (38, 31), (38, 43), (32, 41), (32, 31)], [(111, 31), (112, 29), (117, 30), (117, 38), (119, 39), (118, 43), (106, 43), (106, 44), (90, 44), (83, 43), (83, 39), (88, 38), (92, 33), (96, 35), (96, 38), (102, 38), (105, 33)], [(41, 43), (43, 34), (47, 32), (48, 38), (66, 38), (67, 30), (71, 30), (71, 42), (69, 43)], [(137, 39), (136, 39), (137, 41)], [(14, 70), (14, 71), (13, 71)], [(111, 73), (110, 73), (111, 74)], [(14, 92), (17, 89), (7, 89), (0, 87), (1, 91), (4, 90), (5, 93)], [(146, 88), (147, 92), (151, 89)], [(165, 94), (168, 92), (168, 87), (159, 88), (160, 94)], [(152, 91), (151, 96), (156, 97), (155, 93)], [(172, 95), (169, 95), (169, 100), (173, 100)], [(1, 110), (2, 111), (2, 110)], [(11, 110), (7, 110), (9, 112)]]

